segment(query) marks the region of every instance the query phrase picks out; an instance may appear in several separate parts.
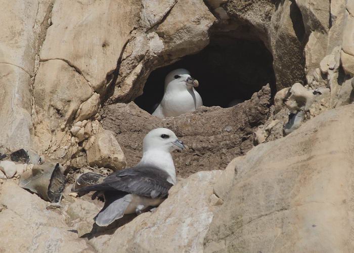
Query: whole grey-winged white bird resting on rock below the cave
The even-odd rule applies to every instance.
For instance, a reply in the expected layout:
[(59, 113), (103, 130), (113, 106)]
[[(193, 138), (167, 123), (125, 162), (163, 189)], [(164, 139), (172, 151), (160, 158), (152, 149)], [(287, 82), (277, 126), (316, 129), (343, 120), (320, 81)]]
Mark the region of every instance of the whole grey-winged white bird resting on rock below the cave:
[(99, 226), (108, 226), (124, 214), (141, 214), (146, 207), (158, 206), (167, 197), (176, 183), (170, 152), (184, 148), (171, 130), (154, 129), (144, 138), (143, 157), (136, 166), (74, 191), (104, 191), (104, 207), (94, 218)]

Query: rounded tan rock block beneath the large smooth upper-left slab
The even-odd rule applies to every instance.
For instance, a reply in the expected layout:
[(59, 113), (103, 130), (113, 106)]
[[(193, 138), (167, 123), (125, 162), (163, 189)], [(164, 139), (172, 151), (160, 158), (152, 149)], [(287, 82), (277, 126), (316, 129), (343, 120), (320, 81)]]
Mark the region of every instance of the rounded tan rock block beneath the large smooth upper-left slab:
[(54, 151), (70, 143), (71, 136), (62, 132), (60, 126), (73, 121), (80, 104), (92, 96), (93, 90), (66, 62), (50, 60), (40, 64), (33, 94), (37, 150), (47, 151), (54, 159), (63, 158), (69, 151)]

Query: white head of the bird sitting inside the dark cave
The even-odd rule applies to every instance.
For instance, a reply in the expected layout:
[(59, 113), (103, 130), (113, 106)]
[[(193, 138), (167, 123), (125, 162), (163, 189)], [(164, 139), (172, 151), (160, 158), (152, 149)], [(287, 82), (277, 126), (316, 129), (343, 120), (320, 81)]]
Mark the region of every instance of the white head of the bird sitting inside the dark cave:
[(165, 78), (165, 89), (192, 89), (198, 87), (198, 80), (194, 79), (187, 69), (179, 68), (169, 72)]

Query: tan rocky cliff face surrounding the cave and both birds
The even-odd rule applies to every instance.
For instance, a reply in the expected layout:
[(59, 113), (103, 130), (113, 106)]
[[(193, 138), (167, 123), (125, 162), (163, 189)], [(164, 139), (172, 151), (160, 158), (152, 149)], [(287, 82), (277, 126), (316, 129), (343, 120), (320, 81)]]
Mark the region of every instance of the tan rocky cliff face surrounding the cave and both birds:
[[(65, 192), (61, 204), (50, 204), (15, 184), (32, 158), (11, 164), (14, 179), (0, 164), (0, 251), (353, 250), (352, 1), (1, 2), (1, 159), (33, 150), (63, 164), (72, 182), (89, 166), (107, 173), (135, 164), (143, 136), (164, 126), (190, 146), (173, 158), (179, 176), (191, 176), (155, 213), (95, 232), (97, 203)], [(264, 52), (259, 61), (257, 54), (225, 59), (253, 45), (273, 62)], [(258, 92), (231, 108), (164, 119), (133, 102), (145, 88), (159, 89), (147, 82), (153, 71), (189, 60), (206, 74), (207, 100), (219, 96), (211, 86), (224, 95)], [(203, 71), (208, 64), (228, 79)], [(283, 138), (289, 110), (303, 111), (302, 125), (291, 123)]]

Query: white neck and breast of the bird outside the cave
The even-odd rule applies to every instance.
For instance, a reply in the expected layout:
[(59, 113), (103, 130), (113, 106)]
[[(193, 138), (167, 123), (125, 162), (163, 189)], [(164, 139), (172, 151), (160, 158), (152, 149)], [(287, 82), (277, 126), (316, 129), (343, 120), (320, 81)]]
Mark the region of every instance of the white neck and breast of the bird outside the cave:
[(143, 158), (139, 164), (151, 164), (168, 173), (167, 179), (171, 184), (176, 183), (176, 171), (171, 154), (168, 151), (152, 149), (143, 152)]

